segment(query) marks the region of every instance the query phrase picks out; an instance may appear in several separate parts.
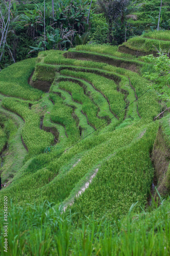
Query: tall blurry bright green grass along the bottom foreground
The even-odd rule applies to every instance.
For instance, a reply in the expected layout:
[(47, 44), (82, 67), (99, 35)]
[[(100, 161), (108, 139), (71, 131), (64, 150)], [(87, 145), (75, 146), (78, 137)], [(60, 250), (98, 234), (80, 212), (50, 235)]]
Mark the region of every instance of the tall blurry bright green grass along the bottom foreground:
[[(88, 218), (88, 225), (72, 225), (72, 215), (65, 217), (44, 202), (39, 206), (18, 208), (12, 205), (8, 212), (9, 256), (168, 256), (170, 254), (169, 200), (150, 213), (128, 215), (111, 225), (103, 220)], [(48, 205), (49, 206), (49, 205)], [(134, 207), (134, 208), (133, 208)], [(3, 212), (0, 229), (4, 233)], [(4, 236), (0, 238), (1, 255)]]

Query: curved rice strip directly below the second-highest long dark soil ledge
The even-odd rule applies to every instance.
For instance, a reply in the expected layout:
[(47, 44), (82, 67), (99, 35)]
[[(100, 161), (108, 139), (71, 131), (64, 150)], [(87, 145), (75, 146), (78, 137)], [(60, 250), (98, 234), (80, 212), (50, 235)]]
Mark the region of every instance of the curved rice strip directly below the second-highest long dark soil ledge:
[[(124, 95), (117, 91), (117, 85), (114, 81), (87, 72), (75, 72), (71, 70), (61, 70), (60, 72), (63, 75), (81, 78), (93, 84), (94, 88), (99, 90), (109, 100), (110, 109), (114, 115), (125, 108)], [(119, 118), (121, 120), (124, 118), (124, 111), (119, 114)]]

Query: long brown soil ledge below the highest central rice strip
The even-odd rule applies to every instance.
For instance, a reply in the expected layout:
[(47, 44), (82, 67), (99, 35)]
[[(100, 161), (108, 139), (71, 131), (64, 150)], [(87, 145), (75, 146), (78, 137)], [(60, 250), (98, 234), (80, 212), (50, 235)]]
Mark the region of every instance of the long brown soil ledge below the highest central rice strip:
[(85, 52), (65, 52), (63, 56), (65, 58), (71, 58), (71, 59), (103, 62), (116, 67), (125, 68), (133, 72), (138, 72), (139, 66), (140, 66), (138, 63), (135, 63), (132, 61), (114, 59), (114, 58), (110, 58), (103, 55), (96, 55), (96, 54), (90, 54)]

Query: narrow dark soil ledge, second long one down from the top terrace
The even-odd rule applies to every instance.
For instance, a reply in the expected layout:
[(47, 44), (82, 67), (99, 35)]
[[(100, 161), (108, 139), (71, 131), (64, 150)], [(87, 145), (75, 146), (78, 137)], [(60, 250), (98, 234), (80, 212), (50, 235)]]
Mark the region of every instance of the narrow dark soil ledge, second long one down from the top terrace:
[(108, 79), (113, 80), (115, 83), (119, 83), (121, 78), (119, 76), (116, 76), (114, 74), (109, 74), (107, 72), (101, 72), (99, 70), (96, 69), (88, 69), (88, 68), (74, 68), (74, 67), (70, 67), (70, 66), (61, 66), (61, 69), (68, 69), (68, 70), (72, 70), (72, 71), (81, 71), (81, 72), (88, 72), (88, 73), (93, 73), (93, 74), (97, 74), (99, 76), (102, 77), (106, 77)]

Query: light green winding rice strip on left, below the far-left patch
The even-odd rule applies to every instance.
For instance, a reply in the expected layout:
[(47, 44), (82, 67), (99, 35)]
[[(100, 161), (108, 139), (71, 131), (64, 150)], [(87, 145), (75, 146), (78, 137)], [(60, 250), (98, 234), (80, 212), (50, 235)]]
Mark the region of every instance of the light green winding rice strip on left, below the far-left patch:
[(22, 138), (30, 155), (37, 155), (43, 152), (47, 145), (53, 144), (54, 136), (40, 129), (40, 116), (29, 109), (27, 102), (4, 97), (2, 105), (24, 119)]

